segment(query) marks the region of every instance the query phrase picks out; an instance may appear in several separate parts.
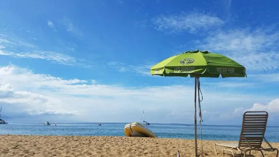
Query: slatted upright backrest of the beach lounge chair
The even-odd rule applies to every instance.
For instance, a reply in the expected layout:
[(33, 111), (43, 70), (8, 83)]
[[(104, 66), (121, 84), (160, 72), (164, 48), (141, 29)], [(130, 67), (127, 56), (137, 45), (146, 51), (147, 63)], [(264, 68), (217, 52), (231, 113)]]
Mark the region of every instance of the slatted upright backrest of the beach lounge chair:
[[(249, 147), (247, 141), (253, 148), (262, 145), (268, 113), (266, 111), (247, 111), (243, 114), (242, 129), (239, 147)], [(247, 141), (246, 141), (247, 140)]]

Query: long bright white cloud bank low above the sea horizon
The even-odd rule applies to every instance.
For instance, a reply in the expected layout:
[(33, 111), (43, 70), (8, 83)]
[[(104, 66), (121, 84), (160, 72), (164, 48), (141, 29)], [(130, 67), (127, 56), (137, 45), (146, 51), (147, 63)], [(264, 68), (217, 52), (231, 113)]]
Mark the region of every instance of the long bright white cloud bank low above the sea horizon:
[[(193, 89), (185, 86), (134, 88), (98, 85), (92, 80), (64, 80), (16, 66), (0, 68), (0, 83), (1, 102), (9, 104), (5, 105), (5, 110), (11, 114), (15, 114), (14, 108), (17, 108), (17, 112), (32, 115), (50, 112), (75, 115), (75, 121), (127, 122), (138, 121), (142, 109), (145, 109), (153, 122), (164, 123), (161, 117), (167, 116), (168, 122), (192, 123), (192, 119), (185, 122), (168, 115), (170, 111), (192, 112)], [(207, 90), (203, 90), (203, 94), (203, 109), (215, 107), (216, 112), (225, 106), (248, 105), (270, 99)]]

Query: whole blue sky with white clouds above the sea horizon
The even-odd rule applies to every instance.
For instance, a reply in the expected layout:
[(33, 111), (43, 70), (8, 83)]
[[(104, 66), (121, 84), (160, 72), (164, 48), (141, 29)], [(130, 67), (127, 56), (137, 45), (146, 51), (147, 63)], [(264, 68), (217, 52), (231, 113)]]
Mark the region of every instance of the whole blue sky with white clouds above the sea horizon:
[[(188, 50), (233, 58), (247, 78), (201, 78), (204, 124), (279, 113), (276, 1), (3, 1), (6, 121), (193, 123), (193, 78), (149, 68)], [(233, 117), (233, 118), (232, 118)]]

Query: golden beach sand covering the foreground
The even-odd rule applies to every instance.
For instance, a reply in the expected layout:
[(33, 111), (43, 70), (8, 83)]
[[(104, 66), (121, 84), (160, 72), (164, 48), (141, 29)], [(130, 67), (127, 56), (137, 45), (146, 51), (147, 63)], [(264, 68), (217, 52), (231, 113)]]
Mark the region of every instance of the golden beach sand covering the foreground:
[[(214, 143), (203, 141), (204, 156), (215, 155)], [(231, 141), (230, 141), (231, 142)], [(198, 141), (201, 152), (201, 141)], [(279, 143), (271, 143), (279, 148)], [(266, 144), (264, 144), (266, 147)], [(194, 156), (194, 140), (114, 136), (23, 136), (0, 135), (0, 156)], [(235, 151), (236, 153), (240, 153)], [(261, 156), (252, 151), (254, 156)], [(266, 157), (275, 152), (264, 152)], [(232, 156), (226, 152), (225, 156)], [(242, 155), (237, 155), (242, 156)], [(249, 156), (249, 155), (248, 155)]]

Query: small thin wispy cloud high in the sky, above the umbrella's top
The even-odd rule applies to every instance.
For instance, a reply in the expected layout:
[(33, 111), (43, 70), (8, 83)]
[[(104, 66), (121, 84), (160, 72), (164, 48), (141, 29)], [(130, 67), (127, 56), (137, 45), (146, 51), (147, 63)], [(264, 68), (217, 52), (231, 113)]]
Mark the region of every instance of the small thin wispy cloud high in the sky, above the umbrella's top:
[(217, 16), (202, 13), (181, 13), (179, 15), (159, 16), (153, 19), (155, 28), (169, 32), (188, 31), (194, 33), (218, 27), (224, 21)]

